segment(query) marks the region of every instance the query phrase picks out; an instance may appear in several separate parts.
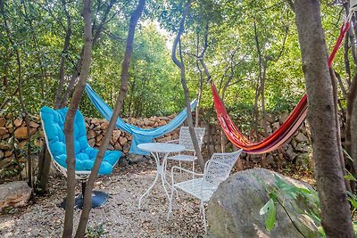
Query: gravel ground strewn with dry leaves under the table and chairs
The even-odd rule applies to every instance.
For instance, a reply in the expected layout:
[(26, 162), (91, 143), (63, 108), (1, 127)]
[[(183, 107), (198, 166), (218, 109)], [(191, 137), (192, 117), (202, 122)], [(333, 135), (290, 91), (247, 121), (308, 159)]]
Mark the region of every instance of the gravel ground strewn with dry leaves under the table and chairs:
[[(203, 237), (199, 201), (184, 193), (176, 198), (169, 221), (166, 219), (169, 203), (161, 184), (154, 186), (138, 209), (138, 199), (153, 183), (155, 172), (154, 162), (148, 160), (117, 166), (111, 176), (100, 177), (95, 189), (109, 193), (112, 198), (104, 207), (92, 209), (88, 237)], [(79, 183), (77, 189), (79, 193)], [(58, 204), (64, 196), (64, 177), (53, 176), (48, 196), (35, 198), (25, 209), (9, 209), (0, 215), (0, 237), (61, 237), (64, 209)], [(75, 210), (76, 225), (79, 216), (80, 210)]]

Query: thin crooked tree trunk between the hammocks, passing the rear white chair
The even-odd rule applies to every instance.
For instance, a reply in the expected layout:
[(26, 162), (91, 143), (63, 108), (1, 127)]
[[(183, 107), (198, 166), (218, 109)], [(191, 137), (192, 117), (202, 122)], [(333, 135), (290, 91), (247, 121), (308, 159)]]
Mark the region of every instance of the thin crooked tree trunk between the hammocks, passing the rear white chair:
[(186, 70), (185, 70), (185, 65), (182, 62), (182, 54), (181, 54), (181, 47), (179, 47), (179, 55), (180, 55), (180, 61), (176, 57), (176, 50), (182, 35), (182, 32), (184, 31), (185, 28), (185, 21), (186, 17), (188, 14), (188, 10), (190, 8), (191, 0), (187, 0), (187, 4), (185, 5), (185, 12), (182, 14), (181, 21), (179, 23), (179, 32), (178, 35), (175, 37), (175, 40), (172, 45), (172, 52), (171, 52), (171, 59), (172, 61), (179, 67), (180, 70), (180, 78), (181, 78), (181, 84), (182, 87), (184, 88), (184, 94), (185, 94), (185, 99), (186, 99), (186, 107), (187, 107), (187, 126), (191, 135), (192, 143), (194, 144), (195, 147), (195, 154), (197, 156), (197, 161), (198, 164), (201, 168), (201, 170), (204, 170), (204, 160), (202, 157), (202, 153), (200, 150), (200, 147), (198, 146), (197, 138), (195, 137), (195, 129), (194, 129), (194, 122), (192, 119), (192, 113), (191, 113), (191, 105), (190, 105), (190, 100), (189, 100), (189, 92), (188, 92), (188, 87), (186, 83)]

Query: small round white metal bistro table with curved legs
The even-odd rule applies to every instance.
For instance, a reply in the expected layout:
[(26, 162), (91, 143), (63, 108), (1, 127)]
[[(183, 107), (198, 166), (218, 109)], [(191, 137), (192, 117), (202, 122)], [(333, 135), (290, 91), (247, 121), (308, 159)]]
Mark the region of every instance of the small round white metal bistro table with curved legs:
[[(170, 194), (166, 188), (166, 184), (168, 184), (168, 182), (166, 181), (166, 178), (165, 178), (166, 160), (167, 160), (167, 157), (170, 152), (183, 152), (183, 151), (185, 151), (185, 147), (181, 144), (145, 143), (145, 144), (138, 144), (137, 148), (139, 148), (140, 150), (145, 151), (145, 152), (150, 152), (156, 161), (156, 176), (154, 179), (154, 183), (146, 190), (146, 192), (143, 195), (141, 195), (141, 197), (139, 199), (139, 209), (141, 207), (142, 199), (146, 195), (147, 196), (149, 195), (150, 190), (153, 189), (154, 185), (156, 184), (157, 180), (159, 179), (159, 176), (162, 179), (163, 190), (165, 191), (168, 199), (170, 200)], [(160, 162), (160, 153), (163, 154), (162, 162)]]

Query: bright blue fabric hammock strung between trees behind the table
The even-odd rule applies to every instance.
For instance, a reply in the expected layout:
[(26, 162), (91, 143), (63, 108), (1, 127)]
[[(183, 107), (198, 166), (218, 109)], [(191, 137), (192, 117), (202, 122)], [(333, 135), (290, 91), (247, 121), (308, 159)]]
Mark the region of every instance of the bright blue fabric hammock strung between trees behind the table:
[[(90, 101), (95, 106), (96, 110), (99, 111), (104, 116), (104, 118), (109, 121), (112, 118), (112, 109), (106, 103), (104, 103), (104, 101), (97, 94), (95, 94), (95, 91), (93, 91), (92, 87), (90, 87), (89, 85), (86, 85), (86, 93)], [(194, 111), (196, 104), (197, 100), (195, 99), (191, 103), (191, 111)], [(186, 118), (187, 110), (185, 108), (179, 113), (178, 116), (176, 116), (174, 119), (171, 119), (168, 124), (162, 127), (156, 127), (153, 129), (143, 129), (130, 125), (120, 118), (117, 119), (117, 123), (115, 125), (120, 128), (120, 130), (123, 130), (133, 135), (133, 140), (130, 146), (130, 153), (146, 155), (149, 154), (149, 152), (141, 151), (137, 148), (137, 144), (153, 142), (154, 138), (159, 137), (161, 135), (165, 135), (170, 131), (174, 130), (175, 128), (179, 127), (179, 125), (182, 124)]]

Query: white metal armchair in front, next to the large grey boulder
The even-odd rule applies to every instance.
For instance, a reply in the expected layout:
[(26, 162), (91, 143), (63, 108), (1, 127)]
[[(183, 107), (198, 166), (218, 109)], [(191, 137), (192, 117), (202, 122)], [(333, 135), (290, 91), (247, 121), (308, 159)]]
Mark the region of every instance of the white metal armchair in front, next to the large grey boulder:
[[(169, 201), (169, 214), (172, 212), (172, 201), (173, 193), (176, 189), (179, 189), (185, 193), (193, 195), (195, 198), (201, 200), (200, 212), (203, 214), (203, 225), (206, 229), (206, 218), (204, 213), (204, 202), (210, 201), (212, 194), (218, 188), (221, 182), (226, 180), (229, 176), (230, 170), (236, 164), (236, 161), (242, 150), (237, 152), (229, 153), (213, 153), (211, 160), (208, 160), (204, 166), (203, 174), (197, 174), (185, 168), (180, 168), (174, 166), (171, 168), (171, 182), (172, 190)], [(185, 171), (188, 174), (193, 174), (195, 176), (201, 176), (200, 178), (189, 179), (186, 181), (175, 183), (174, 180), (174, 170), (179, 169), (180, 171)]]

